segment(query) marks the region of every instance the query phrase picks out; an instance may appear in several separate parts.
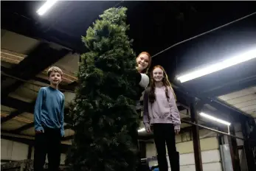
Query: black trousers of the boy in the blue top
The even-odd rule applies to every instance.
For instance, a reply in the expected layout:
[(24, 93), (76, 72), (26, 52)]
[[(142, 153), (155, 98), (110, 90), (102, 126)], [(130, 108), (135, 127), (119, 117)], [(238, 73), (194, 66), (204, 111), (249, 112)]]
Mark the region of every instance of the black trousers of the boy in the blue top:
[(35, 134), (34, 170), (43, 171), (46, 154), (48, 170), (58, 171), (60, 166), (60, 129), (44, 128), (44, 133)]

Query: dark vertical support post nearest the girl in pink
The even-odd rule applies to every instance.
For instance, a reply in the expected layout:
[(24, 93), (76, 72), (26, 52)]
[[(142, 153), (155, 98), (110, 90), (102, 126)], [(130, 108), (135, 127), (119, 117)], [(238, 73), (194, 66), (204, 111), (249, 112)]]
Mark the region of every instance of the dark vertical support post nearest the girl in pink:
[[(190, 104), (190, 114), (191, 114), (191, 122), (195, 124), (198, 123), (198, 116), (196, 113), (196, 106), (195, 106), (195, 98), (193, 98), (193, 102)], [(201, 146), (200, 146), (200, 139), (199, 139), (199, 129), (198, 126), (192, 126), (192, 134), (193, 134), (193, 147), (194, 147), (194, 157), (195, 157), (195, 165), (196, 171), (203, 171), (202, 161), (201, 161)]]

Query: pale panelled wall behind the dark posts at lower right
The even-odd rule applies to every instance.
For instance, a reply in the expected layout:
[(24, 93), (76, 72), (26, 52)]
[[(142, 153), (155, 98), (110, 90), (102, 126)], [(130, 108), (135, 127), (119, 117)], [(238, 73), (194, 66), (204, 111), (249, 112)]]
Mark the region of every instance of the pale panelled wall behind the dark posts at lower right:
[[(221, 156), (217, 134), (209, 130), (199, 130), (201, 143), (201, 158), (204, 171), (222, 171)], [(193, 153), (193, 141), (190, 132), (176, 136), (176, 147), (180, 153), (181, 171), (196, 171), (195, 158)], [(156, 156), (156, 147), (153, 143), (146, 144), (146, 156)], [(168, 157), (167, 157), (168, 158)], [(157, 164), (151, 161), (150, 165)], [(170, 167), (170, 164), (169, 164)], [(170, 168), (169, 168), (170, 170)]]

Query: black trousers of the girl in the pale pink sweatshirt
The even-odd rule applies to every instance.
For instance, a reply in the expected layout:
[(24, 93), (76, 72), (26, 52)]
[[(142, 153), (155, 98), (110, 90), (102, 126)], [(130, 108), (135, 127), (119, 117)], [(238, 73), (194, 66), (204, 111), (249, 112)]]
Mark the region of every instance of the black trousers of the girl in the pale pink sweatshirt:
[(160, 171), (167, 171), (167, 145), (170, 167), (172, 171), (179, 170), (179, 153), (176, 151), (175, 132), (173, 124), (153, 124), (153, 136), (156, 144), (157, 161)]

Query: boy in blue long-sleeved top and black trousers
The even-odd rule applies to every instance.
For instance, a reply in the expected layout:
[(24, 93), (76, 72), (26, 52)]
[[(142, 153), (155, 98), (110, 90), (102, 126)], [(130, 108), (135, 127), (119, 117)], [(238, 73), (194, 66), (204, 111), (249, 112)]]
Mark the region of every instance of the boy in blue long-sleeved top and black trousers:
[(64, 136), (64, 94), (58, 91), (63, 72), (56, 66), (48, 70), (50, 86), (38, 91), (35, 102), (34, 170), (43, 171), (46, 154), (48, 168), (57, 171), (60, 165), (60, 140)]

